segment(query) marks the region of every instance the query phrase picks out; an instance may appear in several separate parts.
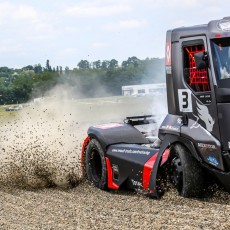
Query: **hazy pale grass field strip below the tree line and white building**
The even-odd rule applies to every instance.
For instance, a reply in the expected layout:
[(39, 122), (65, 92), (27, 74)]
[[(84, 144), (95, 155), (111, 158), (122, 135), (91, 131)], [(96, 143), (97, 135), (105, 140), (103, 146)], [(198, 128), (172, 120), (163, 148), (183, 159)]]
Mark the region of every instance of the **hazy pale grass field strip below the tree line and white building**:
[[(149, 115), (166, 113), (166, 99), (160, 96), (143, 97), (104, 97), (79, 100), (44, 100), (41, 104), (26, 104), (26, 108), (20, 111), (5, 111), (7, 107), (0, 106), (0, 119), (11, 119), (17, 114), (30, 113), (37, 108), (53, 110), (56, 113), (71, 112), (77, 115), (79, 121), (122, 121), (127, 116)], [(38, 111), (40, 112), (40, 111)]]

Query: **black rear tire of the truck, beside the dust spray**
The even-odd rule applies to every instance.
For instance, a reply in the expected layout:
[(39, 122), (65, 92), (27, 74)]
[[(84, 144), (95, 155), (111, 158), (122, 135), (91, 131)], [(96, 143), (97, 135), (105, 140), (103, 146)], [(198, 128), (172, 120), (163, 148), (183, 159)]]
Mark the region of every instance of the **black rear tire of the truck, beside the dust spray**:
[(91, 184), (105, 190), (107, 188), (107, 168), (104, 151), (96, 139), (92, 139), (85, 152), (86, 176)]

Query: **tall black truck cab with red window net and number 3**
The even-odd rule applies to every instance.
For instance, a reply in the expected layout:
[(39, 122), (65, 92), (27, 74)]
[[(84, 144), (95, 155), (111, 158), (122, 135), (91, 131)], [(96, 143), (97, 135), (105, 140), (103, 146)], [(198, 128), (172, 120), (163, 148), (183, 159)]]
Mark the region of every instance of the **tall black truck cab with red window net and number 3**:
[(167, 31), (165, 57), (168, 115), (159, 137), (183, 138), (230, 189), (230, 17)]

